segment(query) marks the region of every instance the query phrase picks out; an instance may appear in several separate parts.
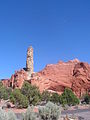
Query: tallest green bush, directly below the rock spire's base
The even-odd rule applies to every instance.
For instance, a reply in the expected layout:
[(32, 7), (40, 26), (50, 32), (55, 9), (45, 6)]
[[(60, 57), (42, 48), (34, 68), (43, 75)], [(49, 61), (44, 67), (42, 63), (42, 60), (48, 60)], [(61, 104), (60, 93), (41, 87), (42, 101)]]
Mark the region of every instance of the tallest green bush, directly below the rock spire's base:
[(28, 82), (24, 82), (21, 88), (21, 93), (28, 98), (30, 105), (36, 105), (41, 100), (39, 89), (36, 86), (32, 86)]

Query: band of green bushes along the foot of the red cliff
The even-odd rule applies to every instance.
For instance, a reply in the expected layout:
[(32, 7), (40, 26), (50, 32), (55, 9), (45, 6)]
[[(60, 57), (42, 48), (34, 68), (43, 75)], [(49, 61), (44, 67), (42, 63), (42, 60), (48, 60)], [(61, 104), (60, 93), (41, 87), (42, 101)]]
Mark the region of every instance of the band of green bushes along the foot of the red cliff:
[[(27, 108), (28, 105), (38, 105), (43, 101), (45, 103), (51, 101), (63, 106), (79, 104), (79, 99), (69, 88), (65, 88), (62, 95), (59, 95), (57, 93), (50, 93), (48, 91), (43, 91), (41, 94), (36, 86), (32, 86), (26, 81), (24, 82), (21, 89), (14, 90), (11, 88), (6, 88), (3, 86), (2, 82), (0, 82), (0, 99), (10, 99), (10, 101), (18, 108)], [(90, 103), (90, 97), (88, 95), (85, 95), (84, 101), (87, 104)]]

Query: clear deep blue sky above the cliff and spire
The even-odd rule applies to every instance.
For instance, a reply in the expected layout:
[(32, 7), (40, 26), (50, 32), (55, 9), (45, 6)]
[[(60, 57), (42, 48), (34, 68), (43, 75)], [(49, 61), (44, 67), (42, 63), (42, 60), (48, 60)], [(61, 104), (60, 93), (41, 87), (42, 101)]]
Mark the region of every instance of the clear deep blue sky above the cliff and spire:
[(25, 67), (34, 71), (78, 58), (90, 63), (90, 0), (0, 0), (0, 79)]

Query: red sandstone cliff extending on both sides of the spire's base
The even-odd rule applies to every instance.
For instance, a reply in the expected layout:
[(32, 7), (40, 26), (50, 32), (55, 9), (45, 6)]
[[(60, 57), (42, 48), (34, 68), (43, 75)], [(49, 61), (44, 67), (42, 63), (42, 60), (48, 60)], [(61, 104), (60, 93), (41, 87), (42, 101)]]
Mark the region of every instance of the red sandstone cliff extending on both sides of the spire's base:
[[(3, 84), (21, 88), (28, 74), (25, 70), (17, 71), (11, 79), (3, 80)], [(71, 88), (80, 97), (90, 92), (90, 65), (75, 59), (69, 62), (58, 62), (47, 65), (42, 71), (33, 73), (29, 82), (39, 87), (40, 91), (62, 93), (65, 87)]]

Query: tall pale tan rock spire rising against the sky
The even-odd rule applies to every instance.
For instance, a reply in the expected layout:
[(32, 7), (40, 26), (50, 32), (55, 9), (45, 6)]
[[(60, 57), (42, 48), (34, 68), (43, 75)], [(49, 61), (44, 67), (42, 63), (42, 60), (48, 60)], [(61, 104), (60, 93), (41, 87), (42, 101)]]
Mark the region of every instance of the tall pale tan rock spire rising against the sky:
[(33, 73), (33, 48), (30, 46), (27, 50), (27, 61), (26, 61), (26, 69), (28, 72), (28, 79), (31, 78), (31, 74)]

